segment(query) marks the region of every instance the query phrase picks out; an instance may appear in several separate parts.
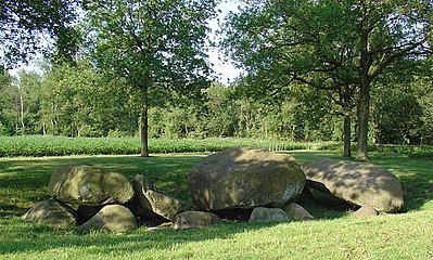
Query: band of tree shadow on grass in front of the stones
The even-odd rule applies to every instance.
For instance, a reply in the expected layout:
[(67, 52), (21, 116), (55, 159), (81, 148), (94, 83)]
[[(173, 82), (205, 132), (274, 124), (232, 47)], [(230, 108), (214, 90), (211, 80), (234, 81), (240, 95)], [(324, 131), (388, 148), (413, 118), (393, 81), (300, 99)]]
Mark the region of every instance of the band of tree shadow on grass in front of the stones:
[(18, 223), (20, 220), (16, 220), (16, 218), (11, 221), (13, 222), (12, 225), (20, 226), (12, 227), (8, 235), (0, 235), (2, 237), (0, 255), (38, 253), (56, 249), (77, 250), (78, 248), (79, 253), (82, 253), (86, 258), (91, 258), (91, 256), (100, 258), (101, 255), (111, 255), (113, 251), (116, 255), (125, 255), (148, 250), (170, 250), (178, 246), (195, 242), (229, 239), (241, 233), (254, 232), (279, 224), (231, 222), (206, 227), (205, 230), (181, 231), (174, 231), (171, 229), (148, 231), (143, 226), (122, 235), (105, 232), (93, 232), (82, 235), (75, 231), (51, 230), (31, 223), (24, 223), (23, 226), (23, 223)]

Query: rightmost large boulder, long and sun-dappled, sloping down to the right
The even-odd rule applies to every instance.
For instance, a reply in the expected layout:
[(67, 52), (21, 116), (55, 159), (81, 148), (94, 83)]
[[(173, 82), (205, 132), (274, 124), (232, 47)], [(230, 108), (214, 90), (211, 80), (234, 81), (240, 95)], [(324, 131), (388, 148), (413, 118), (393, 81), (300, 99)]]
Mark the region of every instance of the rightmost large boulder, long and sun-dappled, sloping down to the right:
[(307, 185), (353, 205), (369, 205), (378, 211), (395, 212), (404, 204), (400, 182), (381, 167), (327, 159), (307, 161), (302, 169)]

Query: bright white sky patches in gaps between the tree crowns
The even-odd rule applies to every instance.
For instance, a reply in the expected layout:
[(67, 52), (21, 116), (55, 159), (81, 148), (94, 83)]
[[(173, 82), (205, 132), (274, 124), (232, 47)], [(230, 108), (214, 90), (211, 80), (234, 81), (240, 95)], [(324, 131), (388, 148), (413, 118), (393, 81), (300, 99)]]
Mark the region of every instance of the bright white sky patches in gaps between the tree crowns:
[[(230, 11), (231, 12), (238, 11), (239, 5), (240, 5), (240, 3), (238, 0), (222, 0), (221, 3), (219, 3), (217, 9), (219, 9), (221, 12), (218, 14), (217, 18), (211, 21), (211, 28), (212, 28), (213, 32), (215, 32), (215, 30), (217, 30), (219, 28), (218, 20), (220, 21), (220, 23), (222, 23), (224, 18)], [(212, 35), (211, 37), (213, 39), (216, 39), (215, 35)], [(227, 84), (227, 83), (233, 81), (233, 79), (235, 79), (240, 75), (241, 70), (234, 68), (234, 66), (230, 62), (226, 62), (226, 63), (222, 62), (224, 60), (227, 60), (227, 58), (224, 56), (224, 53), (220, 52), (217, 48), (211, 49), (208, 55), (209, 55), (211, 63), (214, 64), (213, 68), (215, 70), (215, 73), (218, 75), (218, 79), (220, 82)], [(37, 69), (35, 63), (36, 62), (34, 62), (34, 63), (30, 62), (29, 65), (23, 65), (21, 67), (10, 70), (10, 73), (13, 76), (17, 76), (17, 74), (21, 69), (37, 72), (38, 69)]]

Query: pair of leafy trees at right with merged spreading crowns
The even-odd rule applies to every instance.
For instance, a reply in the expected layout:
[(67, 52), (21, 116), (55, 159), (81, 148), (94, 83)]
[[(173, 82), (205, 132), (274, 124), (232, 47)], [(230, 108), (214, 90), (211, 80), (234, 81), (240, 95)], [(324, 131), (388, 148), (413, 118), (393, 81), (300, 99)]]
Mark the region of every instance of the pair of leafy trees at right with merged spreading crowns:
[(231, 14), (226, 24), (222, 46), (231, 57), (249, 75), (262, 79), (259, 82), (266, 79), (266, 86), (275, 86), (277, 91), (298, 81), (328, 90), (331, 96), (336, 94), (334, 100), (344, 115), (349, 115), (358, 91), (357, 157), (368, 159), (370, 89), (393, 69), (396, 61), (430, 54), (433, 3), (430, 0), (247, 2), (252, 4), (239, 14)]

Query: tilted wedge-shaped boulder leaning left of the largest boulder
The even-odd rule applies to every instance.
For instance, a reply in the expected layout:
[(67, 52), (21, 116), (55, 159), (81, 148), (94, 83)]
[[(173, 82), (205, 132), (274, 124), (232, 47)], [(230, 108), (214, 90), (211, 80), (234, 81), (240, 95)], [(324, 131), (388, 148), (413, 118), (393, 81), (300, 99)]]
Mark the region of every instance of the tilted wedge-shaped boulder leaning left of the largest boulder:
[(141, 174), (135, 177), (132, 185), (140, 207), (168, 220), (173, 221), (176, 214), (193, 209), (191, 205), (157, 191)]

